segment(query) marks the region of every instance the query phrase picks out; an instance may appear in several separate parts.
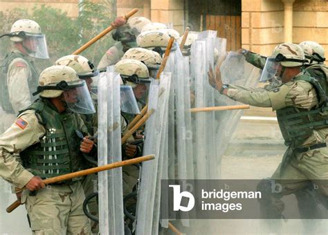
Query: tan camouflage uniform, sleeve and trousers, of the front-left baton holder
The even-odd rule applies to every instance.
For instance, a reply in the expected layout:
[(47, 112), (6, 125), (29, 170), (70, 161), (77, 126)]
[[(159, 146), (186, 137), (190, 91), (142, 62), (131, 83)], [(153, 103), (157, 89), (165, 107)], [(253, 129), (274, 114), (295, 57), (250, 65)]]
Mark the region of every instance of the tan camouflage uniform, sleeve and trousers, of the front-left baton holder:
[[(76, 126), (77, 129), (86, 133), (86, 126), (84, 126), (78, 114), (70, 112), (57, 113), (55, 107), (49, 101), (45, 100), (44, 102), (46, 106), (53, 109), (53, 113), (57, 117), (63, 120), (62, 125), (65, 126), (64, 120), (66, 118), (69, 120), (73, 118), (75, 123), (69, 123), (69, 125)], [(24, 123), (21, 124), (21, 121)], [(51, 135), (46, 128), (52, 126), (52, 122), (53, 120), (47, 120), (46, 126), (40, 124), (39, 117), (35, 115), (35, 110), (27, 110), (19, 115), (15, 124), (12, 124), (10, 129), (0, 137), (1, 177), (18, 188), (24, 187), (33, 178), (33, 173), (37, 173), (37, 171), (25, 169), (24, 167), (29, 167), (28, 164), (23, 164), (23, 167), (15, 160), (13, 154), (20, 153), (21, 159), (25, 162), (28, 154), (24, 151), (27, 151), (26, 149), (30, 151), (31, 148), (37, 147), (44, 136)], [(67, 139), (70, 141), (76, 140), (77, 136), (67, 136)], [(78, 146), (76, 143), (72, 145)], [(75, 167), (83, 167), (83, 163), (78, 158), (75, 161)], [(83, 201), (84, 192), (80, 181), (51, 185), (37, 191), (36, 195), (24, 190), (21, 197), (21, 203), (26, 203), (33, 234), (47, 232), (65, 234), (66, 230), (71, 234), (90, 234), (89, 220), (82, 211)]]

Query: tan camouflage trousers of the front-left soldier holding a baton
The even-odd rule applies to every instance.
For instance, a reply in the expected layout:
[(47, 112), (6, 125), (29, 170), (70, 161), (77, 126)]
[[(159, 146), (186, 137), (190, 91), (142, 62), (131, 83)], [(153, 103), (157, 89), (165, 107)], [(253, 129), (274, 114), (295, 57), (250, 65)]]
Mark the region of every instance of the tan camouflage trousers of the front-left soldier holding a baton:
[(21, 202), (25, 203), (33, 234), (91, 234), (89, 219), (82, 204), (84, 191), (81, 183), (48, 185), (35, 196), (25, 190)]

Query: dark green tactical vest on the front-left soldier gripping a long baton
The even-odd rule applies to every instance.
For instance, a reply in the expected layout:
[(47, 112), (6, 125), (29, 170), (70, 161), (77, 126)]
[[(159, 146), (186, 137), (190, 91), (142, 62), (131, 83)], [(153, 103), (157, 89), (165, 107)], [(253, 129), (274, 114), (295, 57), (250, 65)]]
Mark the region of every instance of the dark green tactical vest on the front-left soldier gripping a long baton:
[[(61, 176), (83, 168), (77, 113), (58, 113), (48, 100), (36, 100), (28, 109), (35, 111), (46, 129), (40, 142), (20, 153), (23, 166), (41, 178)], [(86, 133), (83, 133), (84, 135)]]

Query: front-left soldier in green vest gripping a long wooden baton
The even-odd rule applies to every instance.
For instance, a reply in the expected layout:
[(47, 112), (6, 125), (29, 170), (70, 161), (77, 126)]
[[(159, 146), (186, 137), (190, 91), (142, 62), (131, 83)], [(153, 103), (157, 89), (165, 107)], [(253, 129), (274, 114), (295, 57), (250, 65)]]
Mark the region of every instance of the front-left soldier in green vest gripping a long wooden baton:
[(76, 112), (95, 112), (89, 91), (73, 68), (51, 66), (41, 73), (36, 93), (40, 99), (0, 136), (0, 176), (26, 187), (17, 198), (26, 205), (33, 234), (91, 234), (80, 178), (46, 188), (42, 182), (84, 168), (81, 152), (90, 153), (93, 141), (78, 138), (76, 131), (85, 136), (87, 129)]

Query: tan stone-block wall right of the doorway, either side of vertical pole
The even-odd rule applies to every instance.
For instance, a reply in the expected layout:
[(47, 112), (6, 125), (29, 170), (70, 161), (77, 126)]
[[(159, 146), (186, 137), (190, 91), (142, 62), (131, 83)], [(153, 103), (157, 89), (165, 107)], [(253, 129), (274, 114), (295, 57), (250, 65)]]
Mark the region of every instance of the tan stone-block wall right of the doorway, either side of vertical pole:
[[(295, 0), (293, 43), (317, 41), (328, 51), (328, 1)], [(281, 0), (242, 0), (242, 46), (270, 55), (284, 42), (284, 3)]]

